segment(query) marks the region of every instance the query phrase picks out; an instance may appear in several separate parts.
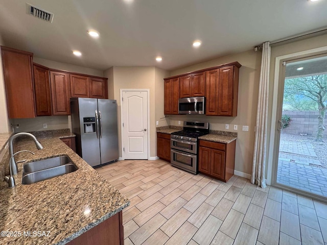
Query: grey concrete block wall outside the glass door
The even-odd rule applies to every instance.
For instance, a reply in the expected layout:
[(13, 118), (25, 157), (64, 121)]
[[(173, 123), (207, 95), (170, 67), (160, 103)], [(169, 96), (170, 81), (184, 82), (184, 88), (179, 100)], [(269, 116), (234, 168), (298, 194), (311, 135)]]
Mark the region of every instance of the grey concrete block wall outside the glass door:
[[(283, 115), (291, 117), (290, 126), (283, 130), (288, 134), (308, 134), (315, 136), (318, 129), (318, 111), (296, 111), (285, 110)], [(325, 117), (325, 126), (327, 126), (327, 115)], [(327, 127), (323, 132), (327, 137)]]

